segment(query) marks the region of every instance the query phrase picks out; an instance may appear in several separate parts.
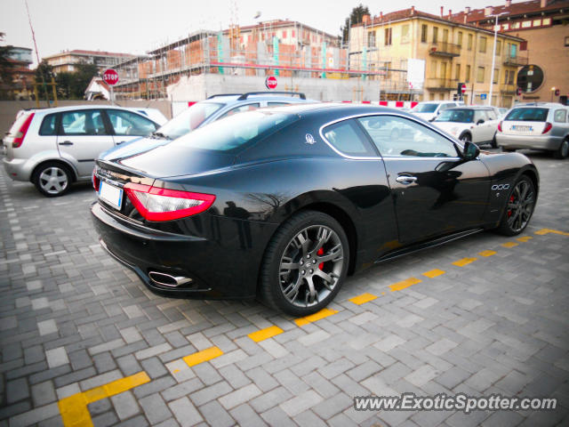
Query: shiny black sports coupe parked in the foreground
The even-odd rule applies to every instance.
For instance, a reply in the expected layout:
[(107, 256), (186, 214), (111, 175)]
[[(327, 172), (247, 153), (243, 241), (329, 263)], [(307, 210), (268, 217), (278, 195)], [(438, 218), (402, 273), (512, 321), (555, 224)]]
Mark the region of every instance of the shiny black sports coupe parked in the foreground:
[[(382, 127), (413, 137), (373, 135)], [(325, 103), (245, 112), (98, 159), (94, 182), (101, 245), (151, 291), (260, 296), (304, 316), (348, 274), (427, 241), (520, 233), (539, 178), (522, 154), (481, 153), (396, 109)]]

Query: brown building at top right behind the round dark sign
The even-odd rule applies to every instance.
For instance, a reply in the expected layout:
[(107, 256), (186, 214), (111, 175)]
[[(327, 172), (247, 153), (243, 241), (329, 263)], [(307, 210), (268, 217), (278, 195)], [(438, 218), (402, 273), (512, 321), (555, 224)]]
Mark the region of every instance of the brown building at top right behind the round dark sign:
[[(569, 96), (569, 1), (532, 0), (487, 6), (454, 13), (452, 19), (493, 29), (498, 17), (500, 31), (522, 37), (525, 56), (517, 70), (519, 101), (559, 101)], [(503, 80), (501, 81), (503, 83)]]

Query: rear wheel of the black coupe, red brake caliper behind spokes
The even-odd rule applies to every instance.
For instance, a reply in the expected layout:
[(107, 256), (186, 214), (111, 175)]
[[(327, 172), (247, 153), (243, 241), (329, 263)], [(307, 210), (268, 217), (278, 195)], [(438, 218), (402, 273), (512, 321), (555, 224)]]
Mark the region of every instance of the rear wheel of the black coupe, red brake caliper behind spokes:
[(294, 317), (316, 313), (340, 291), (348, 263), (349, 242), (339, 222), (316, 211), (295, 214), (268, 244), (260, 298)]

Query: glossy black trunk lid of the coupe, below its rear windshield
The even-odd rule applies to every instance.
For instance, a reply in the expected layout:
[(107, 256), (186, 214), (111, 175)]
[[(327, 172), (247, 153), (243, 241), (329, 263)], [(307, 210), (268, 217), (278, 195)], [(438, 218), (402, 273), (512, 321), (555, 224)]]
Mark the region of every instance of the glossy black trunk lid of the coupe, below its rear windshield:
[(139, 155), (118, 158), (114, 162), (153, 178), (194, 175), (228, 167), (235, 163), (234, 155), (207, 149), (190, 149), (168, 144)]

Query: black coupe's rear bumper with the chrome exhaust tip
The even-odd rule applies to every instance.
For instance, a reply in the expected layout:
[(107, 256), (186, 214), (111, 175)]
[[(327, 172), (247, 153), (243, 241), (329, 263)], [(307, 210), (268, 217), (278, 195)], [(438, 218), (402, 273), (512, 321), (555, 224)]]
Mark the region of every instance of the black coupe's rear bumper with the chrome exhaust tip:
[[(262, 250), (241, 248), (235, 231), (224, 245), (223, 230), (235, 228), (236, 220), (212, 217), (219, 239), (186, 236), (149, 229), (110, 214), (99, 203), (91, 208), (92, 220), (100, 236), (101, 246), (117, 261), (133, 270), (144, 285), (155, 294), (188, 299), (248, 299), (256, 294), (256, 283)], [(223, 222), (223, 223), (220, 223)], [(258, 225), (247, 222), (252, 235)], [(264, 234), (264, 233), (263, 233)], [(232, 237), (232, 238), (231, 238)], [(241, 235), (239, 235), (239, 238)], [(251, 238), (258, 243), (260, 238)], [(256, 268), (252, 270), (253, 266)], [(180, 278), (188, 283), (172, 287), (156, 283), (150, 272)]]

